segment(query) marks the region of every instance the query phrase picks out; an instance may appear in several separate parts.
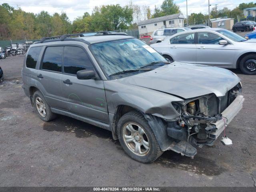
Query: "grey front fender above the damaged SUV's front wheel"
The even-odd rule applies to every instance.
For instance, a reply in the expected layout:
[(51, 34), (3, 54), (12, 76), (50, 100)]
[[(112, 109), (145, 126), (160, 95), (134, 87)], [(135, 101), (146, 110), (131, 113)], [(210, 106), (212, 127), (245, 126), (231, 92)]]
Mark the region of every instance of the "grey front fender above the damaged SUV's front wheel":
[(176, 96), (116, 80), (104, 81), (104, 86), (108, 112), (111, 114), (115, 113), (118, 106), (126, 105), (144, 114), (152, 114), (167, 120), (180, 115), (172, 106), (172, 102), (183, 100)]

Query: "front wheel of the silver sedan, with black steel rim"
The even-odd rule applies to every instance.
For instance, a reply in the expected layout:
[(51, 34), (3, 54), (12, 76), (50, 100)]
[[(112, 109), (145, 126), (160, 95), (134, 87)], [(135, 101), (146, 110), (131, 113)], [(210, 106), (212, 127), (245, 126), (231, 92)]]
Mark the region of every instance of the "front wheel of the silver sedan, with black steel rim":
[(240, 70), (246, 75), (256, 74), (256, 54), (249, 54), (240, 61)]

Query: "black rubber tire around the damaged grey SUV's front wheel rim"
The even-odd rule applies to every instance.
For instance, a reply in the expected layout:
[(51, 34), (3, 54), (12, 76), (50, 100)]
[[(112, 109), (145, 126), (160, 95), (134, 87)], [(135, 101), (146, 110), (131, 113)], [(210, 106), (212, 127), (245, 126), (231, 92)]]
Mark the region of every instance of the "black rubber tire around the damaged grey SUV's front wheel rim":
[[(135, 152), (132, 152), (132, 149), (130, 149), (129, 146), (127, 146), (128, 144), (126, 144), (126, 142), (124, 141), (124, 134), (126, 134), (126, 133), (124, 133), (124, 129), (128, 123), (138, 124), (144, 130), (144, 134), (141, 138), (143, 138), (143, 140), (144, 140), (144, 136), (146, 136), (146, 138), (148, 139), (148, 143), (149, 143), (149, 149), (148, 149), (147, 153), (143, 154), (143, 156), (140, 156), (139, 154), (135, 154)], [(137, 111), (128, 112), (120, 118), (120, 120), (118, 121), (118, 125), (117, 125), (117, 134), (118, 134), (119, 142), (120, 142), (122, 148), (124, 149), (124, 151), (126, 152), (126, 154), (128, 154), (128, 156), (130, 156), (132, 159), (134, 159), (138, 162), (142, 162), (142, 163), (154, 162), (154, 160), (156, 160), (163, 153), (160, 149), (160, 146), (158, 145), (158, 142), (156, 140), (156, 137), (155, 137), (153, 131), (151, 130), (150, 126), (148, 125), (147, 120), (144, 118), (144, 115), (142, 115), (141, 113), (139, 113)], [(135, 140), (135, 138), (136, 137), (134, 137), (134, 140)], [(132, 143), (132, 142), (130, 142), (130, 143)], [(135, 143), (134, 143), (134, 145), (135, 145)], [(142, 145), (140, 146), (140, 150), (141, 150), (141, 147), (142, 147)]]

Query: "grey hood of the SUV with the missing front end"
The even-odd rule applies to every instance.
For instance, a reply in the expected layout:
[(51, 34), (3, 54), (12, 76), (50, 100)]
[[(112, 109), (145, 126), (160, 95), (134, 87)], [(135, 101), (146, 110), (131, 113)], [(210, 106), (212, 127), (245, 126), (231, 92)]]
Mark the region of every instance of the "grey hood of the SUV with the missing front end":
[(118, 81), (187, 99), (210, 93), (224, 96), (240, 78), (223, 68), (173, 62)]

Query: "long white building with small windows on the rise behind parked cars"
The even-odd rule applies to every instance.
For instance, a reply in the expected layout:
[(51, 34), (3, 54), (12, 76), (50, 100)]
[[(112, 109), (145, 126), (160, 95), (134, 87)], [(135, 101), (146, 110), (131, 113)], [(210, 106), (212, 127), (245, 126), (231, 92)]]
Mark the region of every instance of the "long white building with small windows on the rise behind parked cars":
[(148, 19), (138, 23), (140, 35), (151, 35), (154, 30), (170, 27), (184, 27), (184, 16), (182, 13)]

